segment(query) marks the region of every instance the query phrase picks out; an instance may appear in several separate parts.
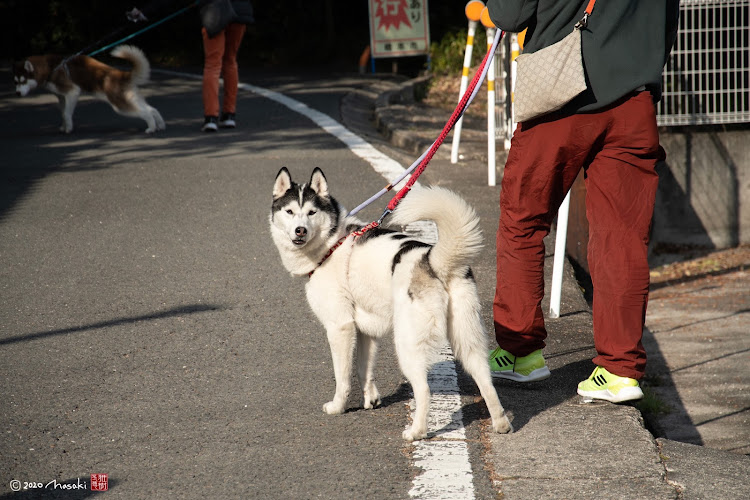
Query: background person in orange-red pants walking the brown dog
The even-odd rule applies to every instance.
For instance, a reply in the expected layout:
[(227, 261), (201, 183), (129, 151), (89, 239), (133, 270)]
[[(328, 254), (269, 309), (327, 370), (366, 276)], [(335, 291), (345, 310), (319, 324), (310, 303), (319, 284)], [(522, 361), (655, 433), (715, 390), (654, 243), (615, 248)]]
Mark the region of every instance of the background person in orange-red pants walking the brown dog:
[[(201, 6), (203, 34), (203, 116), (201, 130), (234, 128), (239, 74), (237, 52), (248, 24), (255, 22), (249, 0), (206, 0)], [(219, 77), (224, 94), (219, 106)], [(221, 108), (221, 116), (219, 109)]]

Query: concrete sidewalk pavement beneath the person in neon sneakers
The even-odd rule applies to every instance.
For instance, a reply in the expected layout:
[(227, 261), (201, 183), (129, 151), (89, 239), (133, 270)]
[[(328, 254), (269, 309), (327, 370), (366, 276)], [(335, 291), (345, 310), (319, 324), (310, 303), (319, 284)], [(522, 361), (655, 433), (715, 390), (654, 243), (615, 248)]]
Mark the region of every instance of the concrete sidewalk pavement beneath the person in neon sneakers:
[[(450, 116), (414, 102), (414, 86), (422, 83), (374, 80), (369, 91), (344, 103), (345, 124), (356, 128), (357, 120), (364, 121), (362, 111), (369, 110), (382, 138), (404, 152), (409, 165)], [(356, 109), (359, 118), (347, 108)], [(456, 165), (450, 163), (452, 135), (423, 179), (457, 190), (479, 212), (488, 248), (475, 274), (482, 297), (491, 297), (499, 187), (487, 186), (486, 122), (464, 120)], [(504, 155), (498, 141), (498, 184)], [(554, 228), (547, 239), (546, 297), (553, 250)], [(593, 369), (595, 351), (590, 308), (566, 262), (561, 317), (547, 320), (545, 357), (552, 377), (525, 385), (495, 380), (515, 427), (511, 435), (481, 433), (498, 494), (506, 500), (750, 498), (748, 267), (663, 283), (654, 291), (644, 338), (650, 355), (643, 384), (647, 398), (615, 405), (587, 403), (576, 395), (576, 385)], [(481, 405), (475, 406), (484, 418)], [(471, 409), (466, 415), (471, 421)]]

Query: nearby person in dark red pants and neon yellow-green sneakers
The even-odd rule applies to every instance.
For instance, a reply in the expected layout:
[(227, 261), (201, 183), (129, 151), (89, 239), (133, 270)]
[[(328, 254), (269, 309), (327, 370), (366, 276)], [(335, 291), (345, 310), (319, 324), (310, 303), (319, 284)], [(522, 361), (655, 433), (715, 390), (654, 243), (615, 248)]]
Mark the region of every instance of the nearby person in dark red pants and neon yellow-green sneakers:
[[(590, 0), (488, 0), (495, 25), (528, 28), (524, 53), (570, 34)], [(612, 402), (643, 397), (641, 338), (648, 302), (648, 241), (664, 160), (656, 126), (661, 73), (676, 38), (678, 0), (596, 2), (582, 31), (587, 89), (562, 109), (518, 124), (500, 194), (493, 303), (499, 377), (542, 380), (547, 331), (544, 242), (583, 168), (594, 286), (596, 368), (578, 393)]]

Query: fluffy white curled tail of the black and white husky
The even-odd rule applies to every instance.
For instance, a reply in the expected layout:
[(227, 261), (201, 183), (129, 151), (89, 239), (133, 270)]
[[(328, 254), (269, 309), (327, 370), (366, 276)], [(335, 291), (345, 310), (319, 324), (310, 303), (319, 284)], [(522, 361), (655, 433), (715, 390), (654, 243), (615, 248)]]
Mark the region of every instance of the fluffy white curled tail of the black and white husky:
[(479, 217), (458, 194), (440, 187), (414, 187), (391, 215), (390, 222), (406, 225), (432, 220), (438, 241), (430, 251), (430, 265), (443, 280), (465, 275), (471, 261), (482, 249)]

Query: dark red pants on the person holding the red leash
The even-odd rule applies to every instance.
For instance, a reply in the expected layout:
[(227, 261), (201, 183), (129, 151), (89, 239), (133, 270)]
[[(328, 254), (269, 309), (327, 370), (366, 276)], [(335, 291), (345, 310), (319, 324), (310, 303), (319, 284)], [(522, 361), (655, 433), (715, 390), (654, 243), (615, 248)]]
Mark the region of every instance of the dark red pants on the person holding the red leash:
[(545, 346), (543, 239), (583, 167), (594, 363), (622, 377), (643, 376), (647, 246), (660, 159), (649, 92), (596, 113), (519, 124), (500, 194), (493, 307), (498, 345), (516, 356)]

